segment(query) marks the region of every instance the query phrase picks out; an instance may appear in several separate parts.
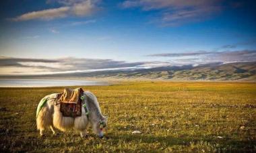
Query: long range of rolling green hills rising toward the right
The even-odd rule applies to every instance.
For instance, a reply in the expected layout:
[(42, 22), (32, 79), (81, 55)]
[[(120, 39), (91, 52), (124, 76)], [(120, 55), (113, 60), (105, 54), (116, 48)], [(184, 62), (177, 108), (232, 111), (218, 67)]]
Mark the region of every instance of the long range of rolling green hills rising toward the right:
[(164, 66), (147, 69), (101, 70), (29, 76), (1, 76), (1, 78), (74, 78), (74, 79), (163, 79), (256, 81), (256, 62), (214, 63), (199, 66)]

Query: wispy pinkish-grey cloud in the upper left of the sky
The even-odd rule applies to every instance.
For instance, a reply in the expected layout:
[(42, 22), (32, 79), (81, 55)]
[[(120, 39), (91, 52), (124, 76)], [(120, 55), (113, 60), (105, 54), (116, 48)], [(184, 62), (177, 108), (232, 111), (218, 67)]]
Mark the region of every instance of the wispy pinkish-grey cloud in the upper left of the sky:
[(56, 18), (73, 16), (87, 16), (92, 14), (98, 9), (98, 3), (96, 0), (84, 0), (84, 1), (47, 1), (47, 3), (59, 3), (63, 5), (59, 8), (44, 9), (40, 11), (31, 11), (14, 17), (13, 21), (27, 21), (31, 19), (44, 19), (51, 20)]

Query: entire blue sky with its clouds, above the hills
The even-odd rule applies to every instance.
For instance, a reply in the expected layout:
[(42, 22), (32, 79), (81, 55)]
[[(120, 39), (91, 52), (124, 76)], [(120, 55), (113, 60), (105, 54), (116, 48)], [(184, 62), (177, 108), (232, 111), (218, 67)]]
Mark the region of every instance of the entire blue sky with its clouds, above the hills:
[(0, 3), (1, 74), (256, 59), (253, 1)]

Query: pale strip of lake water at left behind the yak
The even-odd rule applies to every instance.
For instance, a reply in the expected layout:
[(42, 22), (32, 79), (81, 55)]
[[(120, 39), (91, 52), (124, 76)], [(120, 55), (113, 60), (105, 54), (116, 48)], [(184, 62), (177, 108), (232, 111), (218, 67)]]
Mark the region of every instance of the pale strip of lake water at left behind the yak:
[(103, 81), (57, 79), (0, 79), (0, 87), (67, 87), (107, 85)]

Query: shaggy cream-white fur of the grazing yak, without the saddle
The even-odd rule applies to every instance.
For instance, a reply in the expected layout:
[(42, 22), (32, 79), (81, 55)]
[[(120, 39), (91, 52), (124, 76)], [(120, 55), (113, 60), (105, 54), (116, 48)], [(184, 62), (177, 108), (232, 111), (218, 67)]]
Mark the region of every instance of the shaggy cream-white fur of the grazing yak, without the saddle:
[(76, 130), (80, 132), (83, 137), (86, 135), (86, 127), (90, 123), (93, 128), (93, 132), (100, 136), (100, 123), (102, 121), (106, 125), (107, 117), (104, 117), (100, 111), (97, 98), (94, 94), (86, 91), (84, 92), (84, 102), (87, 105), (87, 109), (90, 112), (89, 116), (86, 116), (86, 111), (82, 108), (82, 116), (79, 117), (63, 117), (60, 111), (60, 105), (55, 105), (57, 93), (47, 95), (45, 98), (49, 100), (45, 103), (44, 107), (38, 113), (36, 118), (37, 129), (40, 130), (42, 136), (43, 131), (46, 128), (50, 128), (55, 134), (55, 128), (65, 132), (66, 130)]

